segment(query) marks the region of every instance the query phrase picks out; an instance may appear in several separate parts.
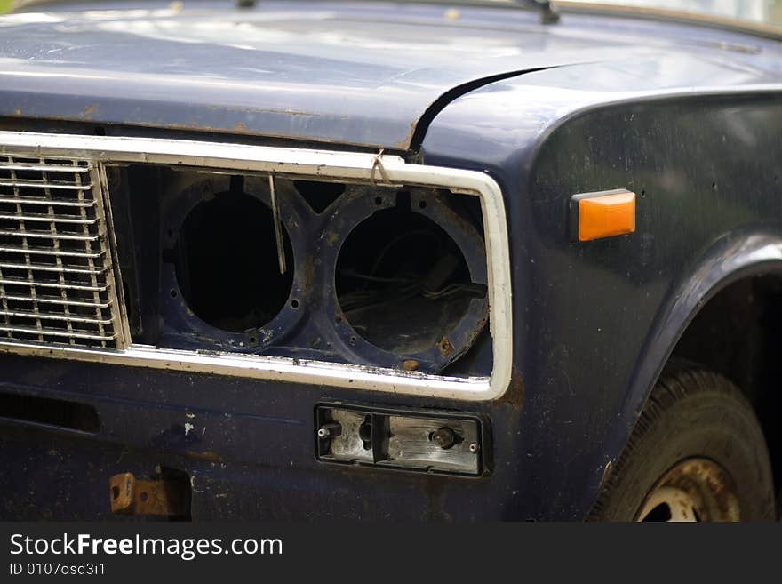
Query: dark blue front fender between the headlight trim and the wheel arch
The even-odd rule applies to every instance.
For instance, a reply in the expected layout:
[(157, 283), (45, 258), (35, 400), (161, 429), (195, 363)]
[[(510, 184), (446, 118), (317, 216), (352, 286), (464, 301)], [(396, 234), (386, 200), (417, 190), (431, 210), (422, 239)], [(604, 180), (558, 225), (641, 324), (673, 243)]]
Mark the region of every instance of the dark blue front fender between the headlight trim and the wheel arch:
[[(782, 268), (782, 93), (574, 100), (531, 116), (538, 95), (567, 95), (555, 87), (568, 75), (468, 94), (424, 141), (428, 164), (485, 170), (506, 194), (525, 388), (521, 491), (554, 517), (586, 514), (702, 303), (730, 277)], [(523, 131), (495, 132), (498, 110)], [(452, 146), (463, 143), (486, 148), (467, 157)], [(571, 195), (619, 187), (639, 196), (636, 232), (571, 242)]]

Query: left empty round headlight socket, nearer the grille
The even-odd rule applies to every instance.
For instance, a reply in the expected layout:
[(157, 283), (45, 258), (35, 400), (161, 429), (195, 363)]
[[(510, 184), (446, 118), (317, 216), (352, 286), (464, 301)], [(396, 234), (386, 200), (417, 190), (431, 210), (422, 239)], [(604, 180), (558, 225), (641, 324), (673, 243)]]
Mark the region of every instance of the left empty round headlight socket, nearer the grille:
[[(297, 200), (294, 197), (287, 196), (288, 193), (278, 193), (281, 199), (280, 205), (283, 208), (284, 217), (287, 219), (283, 226), (283, 240), (286, 248), (287, 271), (285, 275), (279, 273), (277, 264), (276, 243), (274, 237), (274, 222), (271, 195), (269, 190), (268, 175), (254, 174), (219, 174), (214, 172), (195, 172), (177, 171), (181, 176), (175, 174), (176, 179), (171, 181), (169, 194), (167, 195), (167, 204), (164, 208), (164, 237), (163, 237), (163, 256), (164, 261), (161, 267), (161, 290), (160, 306), (164, 312), (164, 344), (168, 343), (173, 348), (190, 348), (203, 346), (203, 340), (208, 339), (216, 348), (228, 349), (241, 352), (259, 352), (275, 343), (279, 343), (285, 337), (286, 333), (296, 329), (299, 321), (304, 316), (304, 310), (299, 309), (299, 305), (307, 291), (307, 283), (304, 281), (301, 270), (297, 270), (295, 259), (301, 257), (304, 253), (299, 251), (306, 249), (305, 239), (296, 229), (289, 229), (288, 225), (299, 225), (302, 221), (301, 204), (296, 205)], [(278, 190), (292, 187), (278, 186)], [(281, 196), (286, 195), (286, 196)], [(219, 212), (215, 205), (223, 204), (224, 211)], [(241, 206), (239, 206), (241, 204)], [(211, 240), (222, 240), (225, 236), (220, 233), (212, 233), (209, 229), (203, 229), (199, 232), (192, 228), (190, 223), (195, 220), (199, 213), (211, 225), (227, 228), (229, 224), (225, 216), (229, 215), (228, 210), (239, 212), (241, 220), (258, 220), (260, 227), (259, 233), (266, 236), (264, 244), (256, 242), (257, 234), (251, 234), (249, 229), (233, 230), (243, 231), (247, 234), (246, 249), (235, 250), (236, 261), (241, 263), (243, 270), (235, 270), (235, 274), (240, 276), (244, 274), (245, 282), (236, 279), (218, 277), (208, 273), (208, 262), (190, 262), (188, 247), (185, 241), (188, 231), (193, 231), (195, 240), (210, 242)], [(222, 219), (222, 220), (221, 220)], [(261, 221), (262, 220), (262, 221)], [(211, 244), (209, 244), (212, 246)], [(203, 245), (202, 245), (203, 246)], [(212, 246), (214, 247), (214, 246)], [(219, 249), (219, 246), (218, 246)], [(259, 270), (259, 262), (252, 257), (247, 257), (253, 249), (264, 250), (270, 260), (263, 262), (266, 269)], [(212, 251), (213, 253), (213, 251)], [(189, 280), (189, 272), (194, 266), (203, 272), (198, 280), (201, 286), (192, 286), (193, 288), (203, 289), (198, 292), (208, 300), (209, 304), (219, 306), (219, 316), (207, 315), (199, 307), (201, 302), (195, 298), (195, 291), (189, 291), (191, 286), (183, 285)], [(245, 265), (246, 264), (246, 265)], [(248, 276), (255, 270), (252, 276)], [(251, 308), (247, 306), (246, 312), (250, 316), (252, 313), (268, 313), (257, 322), (250, 322), (247, 317), (237, 315), (223, 314), (224, 308), (235, 309), (237, 301), (227, 301), (221, 298), (221, 294), (208, 291), (204, 287), (204, 280), (226, 283), (221, 286), (227, 291), (228, 297), (235, 297), (240, 292), (251, 295), (256, 292), (260, 303), (267, 302), (269, 297), (275, 298), (274, 306), (260, 306)], [(279, 280), (279, 282), (278, 282)], [(284, 282), (283, 282), (284, 281)], [(274, 282), (275, 286), (269, 284)], [(257, 284), (255, 287), (251, 284)], [(270, 288), (275, 288), (275, 293), (269, 293)], [(260, 293), (263, 292), (263, 293)], [(189, 298), (188, 298), (189, 297)], [(216, 301), (217, 299), (221, 301)], [(238, 302), (243, 304), (243, 302)], [(219, 324), (215, 321), (218, 318), (222, 321), (235, 320), (241, 323), (234, 327), (228, 324)], [(244, 322), (247, 320), (247, 322)], [(172, 342), (173, 341), (173, 342)]]

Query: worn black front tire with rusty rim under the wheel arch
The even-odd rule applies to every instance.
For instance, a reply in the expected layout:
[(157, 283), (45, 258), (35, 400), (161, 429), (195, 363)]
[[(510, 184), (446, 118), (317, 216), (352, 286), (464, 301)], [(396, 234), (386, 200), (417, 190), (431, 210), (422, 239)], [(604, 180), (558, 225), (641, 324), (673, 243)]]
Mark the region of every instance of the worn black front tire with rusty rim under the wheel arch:
[(666, 368), (589, 519), (774, 519), (769, 452), (752, 405), (697, 364)]

